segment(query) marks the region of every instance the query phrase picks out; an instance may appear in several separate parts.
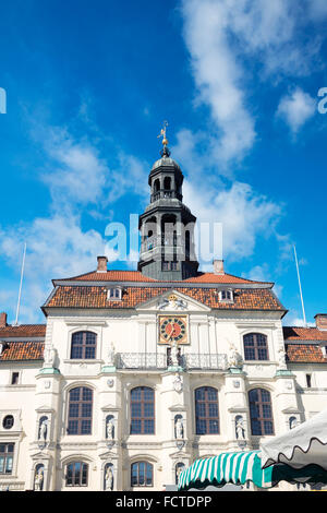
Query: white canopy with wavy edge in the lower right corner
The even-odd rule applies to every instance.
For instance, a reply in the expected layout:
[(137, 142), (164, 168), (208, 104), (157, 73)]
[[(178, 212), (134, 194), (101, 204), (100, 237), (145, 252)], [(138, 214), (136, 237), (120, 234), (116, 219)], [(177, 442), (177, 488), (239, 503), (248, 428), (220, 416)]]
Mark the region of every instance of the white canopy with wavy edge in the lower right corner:
[(327, 470), (327, 409), (284, 434), (261, 444), (262, 467), (286, 463), (293, 468), (310, 464)]

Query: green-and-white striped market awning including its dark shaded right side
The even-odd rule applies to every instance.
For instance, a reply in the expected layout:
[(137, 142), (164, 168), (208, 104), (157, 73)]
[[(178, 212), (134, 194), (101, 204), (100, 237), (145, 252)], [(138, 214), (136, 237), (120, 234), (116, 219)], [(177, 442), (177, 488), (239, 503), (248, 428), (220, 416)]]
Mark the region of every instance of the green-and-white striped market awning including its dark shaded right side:
[(179, 490), (221, 487), (228, 482), (245, 485), (252, 481), (258, 488), (271, 488), (279, 481), (327, 484), (327, 472), (316, 465), (294, 469), (277, 464), (262, 468), (261, 451), (226, 452), (218, 456), (196, 460), (179, 477)]

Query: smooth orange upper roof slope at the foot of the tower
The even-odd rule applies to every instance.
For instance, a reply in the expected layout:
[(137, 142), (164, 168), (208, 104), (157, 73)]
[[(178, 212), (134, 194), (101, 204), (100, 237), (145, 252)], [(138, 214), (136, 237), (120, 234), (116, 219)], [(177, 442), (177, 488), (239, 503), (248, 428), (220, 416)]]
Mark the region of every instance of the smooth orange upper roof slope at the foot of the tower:
[[(60, 282), (143, 282), (156, 283), (165, 282), (144, 276), (140, 271), (107, 271), (106, 273), (81, 274), (71, 278), (60, 279)], [(53, 282), (57, 282), (56, 279)], [(171, 282), (168, 282), (171, 283)], [(241, 278), (232, 274), (198, 273), (197, 276), (174, 283), (207, 283), (207, 284), (263, 284), (269, 282), (253, 282), (252, 279)], [(272, 284), (271, 284), (272, 285)]]

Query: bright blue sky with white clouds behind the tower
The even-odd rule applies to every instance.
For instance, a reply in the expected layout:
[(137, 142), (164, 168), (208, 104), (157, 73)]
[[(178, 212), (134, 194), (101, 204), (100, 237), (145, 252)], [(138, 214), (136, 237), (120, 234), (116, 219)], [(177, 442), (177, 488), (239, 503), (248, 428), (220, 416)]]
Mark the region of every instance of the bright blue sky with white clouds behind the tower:
[[(88, 272), (108, 223), (148, 201), (168, 120), (184, 202), (221, 222), (226, 271), (326, 312), (324, 0), (28, 0), (1, 7), (0, 310), (40, 322), (51, 278)], [(134, 260), (133, 260), (134, 259)], [(111, 269), (135, 269), (135, 255)], [(202, 262), (209, 270), (208, 262)]]

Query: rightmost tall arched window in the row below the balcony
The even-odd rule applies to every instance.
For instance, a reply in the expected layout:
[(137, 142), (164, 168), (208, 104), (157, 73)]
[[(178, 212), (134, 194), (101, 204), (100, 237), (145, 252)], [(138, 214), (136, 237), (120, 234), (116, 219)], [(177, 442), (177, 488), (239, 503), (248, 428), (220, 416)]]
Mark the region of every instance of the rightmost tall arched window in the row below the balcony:
[(270, 392), (253, 389), (249, 392), (252, 434), (274, 434), (274, 419)]

